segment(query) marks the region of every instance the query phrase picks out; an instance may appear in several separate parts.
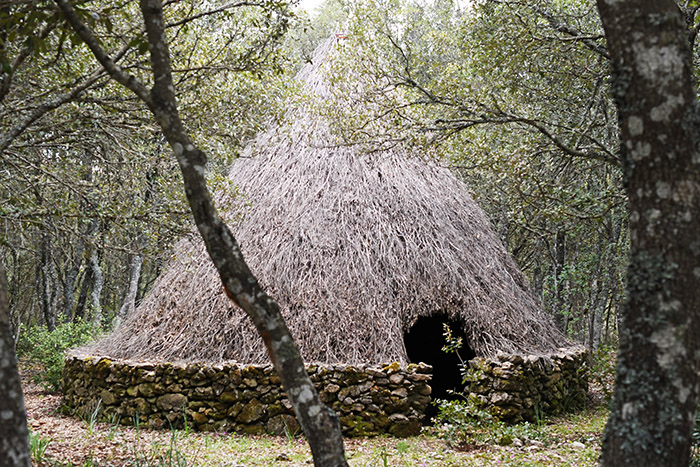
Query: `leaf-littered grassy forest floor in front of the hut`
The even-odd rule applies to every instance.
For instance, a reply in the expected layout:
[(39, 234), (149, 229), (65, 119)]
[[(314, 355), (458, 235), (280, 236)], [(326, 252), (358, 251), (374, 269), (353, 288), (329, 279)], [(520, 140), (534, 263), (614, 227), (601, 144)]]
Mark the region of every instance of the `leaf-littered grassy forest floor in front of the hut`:
[[(61, 395), (41, 389), (24, 374), (33, 465), (88, 466), (308, 466), (302, 438), (154, 431), (95, 423), (59, 412)], [(594, 466), (607, 411), (604, 404), (509, 427), (499, 442), (475, 433), (451, 446), (426, 428), (421, 436), (347, 439), (351, 466)], [(503, 440), (501, 440), (503, 443)]]

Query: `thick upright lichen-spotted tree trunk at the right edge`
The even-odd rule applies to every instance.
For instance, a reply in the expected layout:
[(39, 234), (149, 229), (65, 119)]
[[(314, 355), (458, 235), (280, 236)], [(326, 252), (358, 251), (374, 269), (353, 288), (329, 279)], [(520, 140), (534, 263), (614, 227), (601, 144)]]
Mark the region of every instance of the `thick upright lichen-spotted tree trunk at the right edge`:
[(630, 209), (605, 466), (688, 465), (700, 356), (700, 118), (672, 0), (598, 0)]

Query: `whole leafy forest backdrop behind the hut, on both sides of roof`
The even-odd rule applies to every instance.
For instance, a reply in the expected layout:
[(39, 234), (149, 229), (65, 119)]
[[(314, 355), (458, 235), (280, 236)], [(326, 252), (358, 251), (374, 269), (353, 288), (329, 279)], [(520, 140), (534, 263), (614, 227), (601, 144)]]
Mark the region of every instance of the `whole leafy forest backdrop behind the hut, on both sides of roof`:
[[(181, 176), (144, 106), (95, 68), (53, 8), (7, 8), (0, 260), (13, 335), (78, 321), (79, 334), (104, 332), (192, 234)], [(120, 66), (142, 73), (135, 6), (82, 8), (102, 40), (121, 44)], [(439, 157), (560, 328), (591, 351), (614, 343), (626, 200), (592, 2), (330, 0), (312, 19), (285, 2), (214, 10), (166, 9), (177, 97), (214, 191), (235, 190), (230, 162), (298, 92), (293, 76), (315, 45), (342, 32), (329, 79), (358, 105), (320, 109), (337, 131), (368, 150), (408, 140)]]

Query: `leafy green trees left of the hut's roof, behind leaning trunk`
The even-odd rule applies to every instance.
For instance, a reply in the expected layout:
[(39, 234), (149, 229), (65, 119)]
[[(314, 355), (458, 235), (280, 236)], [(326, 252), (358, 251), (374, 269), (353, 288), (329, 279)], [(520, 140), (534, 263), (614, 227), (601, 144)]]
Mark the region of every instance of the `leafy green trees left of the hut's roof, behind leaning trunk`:
[[(106, 52), (150, 86), (138, 2), (78, 3)], [(279, 51), (294, 15), (277, 0), (212, 8), (205, 0), (171, 2), (165, 15), (182, 117), (220, 191), (232, 189), (225, 183), (230, 162), (280, 111), (289, 80)], [(121, 307), (131, 256), (143, 257), (138, 300), (164, 252), (191, 231), (180, 172), (148, 109), (118, 83), (92, 75), (101, 67), (55, 6), (20, 2), (0, 13), (0, 261), (13, 324), (38, 312), (72, 317), (101, 309), (109, 316)], [(87, 89), (72, 95), (79, 84)], [(43, 257), (41, 241), (51, 245)], [(104, 289), (85, 306), (78, 298), (80, 288), (94, 290), (92, 251)], [(47, 291), (40, 306), (38, 288)]]

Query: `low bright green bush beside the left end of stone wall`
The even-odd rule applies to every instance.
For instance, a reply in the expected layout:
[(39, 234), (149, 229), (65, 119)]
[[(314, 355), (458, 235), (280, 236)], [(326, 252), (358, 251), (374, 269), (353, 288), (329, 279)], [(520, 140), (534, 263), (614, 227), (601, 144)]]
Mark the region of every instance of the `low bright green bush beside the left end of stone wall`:
[(88, 322), (63, 323), (54, 331), (43, 326), (32, 326), (20, 334), (17, 354), (37, 372), (33, 379), (48, 391), (57, 391), (61, 387), (63, 359), (66, 350), (87, 344), (96, 336)]

